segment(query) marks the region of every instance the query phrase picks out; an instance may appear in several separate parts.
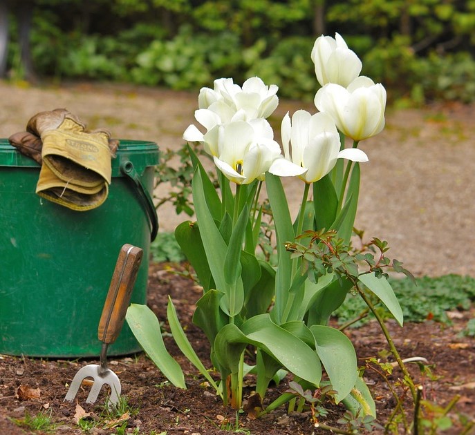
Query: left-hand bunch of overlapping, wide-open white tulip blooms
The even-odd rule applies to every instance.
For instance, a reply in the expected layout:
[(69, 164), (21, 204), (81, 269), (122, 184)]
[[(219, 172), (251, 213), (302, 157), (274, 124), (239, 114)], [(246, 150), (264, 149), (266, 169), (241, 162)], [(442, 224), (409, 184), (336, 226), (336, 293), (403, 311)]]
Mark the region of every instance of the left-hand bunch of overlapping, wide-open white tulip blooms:
[(280, 176), (304, 173), (304, 168), (280, 160), (281, 148), (266, 121), (279, 104), (277, 90), (259, 77), (246, 80), (242, 89), (232, 79), (215, 80), (214, 89), (201, 89), (195, 112), (207, 132), (191, 125), (183, 139), (203, 143), (218, 169), (236, 184), (263, 180), (267, 171)]

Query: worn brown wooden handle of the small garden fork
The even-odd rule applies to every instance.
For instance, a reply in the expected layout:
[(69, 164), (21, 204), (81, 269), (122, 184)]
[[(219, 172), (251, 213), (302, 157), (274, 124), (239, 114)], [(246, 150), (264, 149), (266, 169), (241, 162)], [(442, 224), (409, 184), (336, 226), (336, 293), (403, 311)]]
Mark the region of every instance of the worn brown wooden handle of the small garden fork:
[(120, 249), (97, 329), (97, 336), (103, 343), (113, 343), (122, 329), (142, 255), (142, 249), (131, 244), (124, 244)]

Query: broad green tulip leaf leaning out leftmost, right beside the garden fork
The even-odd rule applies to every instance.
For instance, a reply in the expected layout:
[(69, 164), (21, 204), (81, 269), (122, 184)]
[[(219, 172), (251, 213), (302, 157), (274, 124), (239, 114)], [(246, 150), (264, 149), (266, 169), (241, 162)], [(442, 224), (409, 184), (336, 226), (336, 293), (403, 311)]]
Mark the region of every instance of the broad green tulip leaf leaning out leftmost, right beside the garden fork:
[(133, 335), (162, 374), (176, 387), (186, 389), (180, 365), (165, 348), (160, 323), (147, 305), (131, 304), (125, 315)]

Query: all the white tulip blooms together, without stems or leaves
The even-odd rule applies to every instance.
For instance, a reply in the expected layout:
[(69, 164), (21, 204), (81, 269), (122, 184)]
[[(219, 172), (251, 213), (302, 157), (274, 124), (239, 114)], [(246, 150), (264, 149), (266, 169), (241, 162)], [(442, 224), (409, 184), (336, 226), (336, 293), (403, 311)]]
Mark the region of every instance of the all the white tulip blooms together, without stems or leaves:
[(320, 114), (299, 110), (292, 120), (287, 114), (282, 147), (266, 121), (279, 103), (278, 88), (266, 86), (259, 77), (246, 80), (242, 88), (232, 79), (215, 80), (214, 89), (202, 88), (195, 117), (206, 133), (190, 125), (183, 139), (201, 142), (217, 168), (236, 184), (263, 180), (266, 172), (313, 183), (328, 174), (337, 159), (366, 162), (366, 154), (355, 147), (340, 150), (338, 131), (355, 142), (380, 133), (384, 87), (358, 76), (362, 62), (338, 34), (335, 39), (319, 37), (311, 58), (322, 85), (315, 95)]

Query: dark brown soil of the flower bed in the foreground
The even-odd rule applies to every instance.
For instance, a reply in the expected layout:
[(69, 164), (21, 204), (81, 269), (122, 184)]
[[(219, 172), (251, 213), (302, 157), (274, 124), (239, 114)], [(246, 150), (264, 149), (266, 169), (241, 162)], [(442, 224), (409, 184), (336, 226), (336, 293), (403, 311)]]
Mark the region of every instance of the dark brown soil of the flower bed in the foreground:
[[(183, 323), (187, 336), (207, 367), (209, 363), (209, 346), (199, 329), (191, 322), (194, 303), (200, 297), (201, 290), (192, 281), (169, 272), (164, 264), (151, 264), (149, 273), (149, 302), (160, 320), (166, 319), (166, 305), (168, 295), (171, 296), (178, 317)], [(429, 400), (436, 400), (440, 405), (447, 405), (451, 398), (460, 394), (461, 398), (454, 412), (468, 416), (475, 415), (474, 396), (474, 364), (475, 343), (473, 338), (458, 336), (468, 318), (473, 317), (474, 311), (457, 313), (454, 325), (446, 327), (427, 321), (422, 324), (408, 324), (403, 329), (389, 322), (391, 334), (395, 340), (402, 358), (422, 356), (430, 363), (431, 371), (436, 380), (420, 374), (416, 365), (409, 365), (411, 373), (417, 382), (424, 385), (424, 395)], [(167, 325), (165, 325), (165, 331)], [(389, 348), (380, 333), (378, 325), (370, 322), (360, 329), (351, 329), (348, 336), (355, 343), (359, 364), (364, 365), (369, 358), (378, 358), (382, 351)], [(155, 430), (168, 431), (168, 434), (225, 434), (232, 430), (224, 430), (220, 416), (227, 418), (233, 425), (236, 412), (223, 407), (210, 387), (203, 387), (203, 378), (196, 369), (180, 354), (172, 338), (166, 337), (165, 344), (171, 354), (185, 370), (186, 391), (177, 389), (169, 383), (160, 371), (144, 355), (128, 356), (124, 358), (109, 358), (109, 365), (120, 378), (122, 394), (127, 397), (129, 405), (138, 409), (136, 416), (131, 416), (127, 423), (130, 431), (140, 430), (140, 434), (150, 434)], [(391, 358), (389, 358), (391, 360)], [(51, 415), (53, 422), (58, 426), (55, 433), (81, 434), (81, 429), (75, 424), (75, 403), (63, 402), (68, 383), (80, 367), (87, 363), (98, 363), (98, 360), (45, 360), (28, 357), (0, 356), (0, 433), (21, 434), (9, 418), (24, 418), (26, 414), (35, 416), (39, 412)], [(391, 384), (395, 385), (401, 373), (394, 369), (390, 376)], [(366, 381), (376, 399), (378, 407), (378, 421), (384, 423), (394, 408), (395, 401), (389, 392), (388, 385), (383, 378), (372, 370), (366, 370)], [(20, 385), (39, 388), (39, 398), (21, 400), (17, 391)], [(252, 378), (246, 383), (245, 392), (252, 391)], [(279, 392), (288, 388), (288, 380), (284, 380), (279, 387), (271, 387), (269, 398), (275, 398)], [(89, 387), (84, 387), (77, 395), (77, 400), (86, 412), (97, 415), (102, 412), (101, 405), (85, 403)], [(104, 403), (100, 396), (97, 403)], [(409, 396), (407, 406), (410, 408)], [(337, 425), (336, 421), (344, 413), (344, 408), (326, 403), (330, 410), (322, 423)], [(338, 426), (338, 425), (337, 425)], [(285, 407), (259, 418), (251, 420), (245, 415), (239, 416), (239, 428), (247, 429), (248, 433), (259, 434), (315, 434), (328, 433), (315, 429), (310, 414), (286, 414)], [(449, 434), (458, 434), (460, 427), (454, 427)], [(28, 432), (28, 431), (27, 431)], [(93, 430), (93, 434), (113, 434), (114, 429), (104, 429), (102, 424)], [(380, 433), (380, 432), (376, 432)]]

